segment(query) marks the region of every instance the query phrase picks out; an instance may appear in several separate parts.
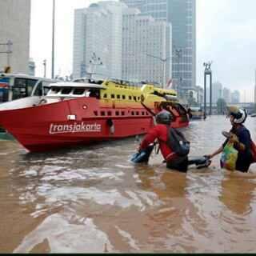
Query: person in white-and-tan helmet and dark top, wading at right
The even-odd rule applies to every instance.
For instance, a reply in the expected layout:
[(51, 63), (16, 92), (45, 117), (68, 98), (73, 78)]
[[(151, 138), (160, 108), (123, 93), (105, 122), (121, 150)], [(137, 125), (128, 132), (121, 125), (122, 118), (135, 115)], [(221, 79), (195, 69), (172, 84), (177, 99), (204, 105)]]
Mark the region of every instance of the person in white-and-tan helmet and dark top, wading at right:
[(208, 157), (214, 158), (215, 155), (222, 153), (226, 143), (230, 141), (234, 143), (235, 150), (238, 150), (236, 170), (247, 172), (250, 164), (252, 163), (252, 155), (250, 152), (250, 131), (247, 130), (243, 125), (247, 118), (246, 110), (239, 109), (236, 106), (230, 106), (228, 108), (228, 117), (230, 118), (232, 125), (232, 129), (230, 130), (230, 138), (227, 138), (223, 145)]

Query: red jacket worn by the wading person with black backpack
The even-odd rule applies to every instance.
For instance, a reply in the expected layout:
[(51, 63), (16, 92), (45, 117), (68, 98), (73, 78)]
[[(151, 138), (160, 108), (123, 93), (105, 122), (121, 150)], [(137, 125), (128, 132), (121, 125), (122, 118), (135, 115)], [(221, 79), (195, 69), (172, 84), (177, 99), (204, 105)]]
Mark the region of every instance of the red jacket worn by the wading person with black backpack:
[(163, 158), (165, 158), (165, 160), (171, 160), (175, 158), (176, 154), (166, 144), (167, 131), (168, 130), (166, 125), (158, 124), (157, 126), (154, 126), (154, 128), (152, 128), (143, 139), (140, 145), (140, 150), (145, 150), (147, 146), (149, 146), (154, 142), (156, 138), (158, 138)]

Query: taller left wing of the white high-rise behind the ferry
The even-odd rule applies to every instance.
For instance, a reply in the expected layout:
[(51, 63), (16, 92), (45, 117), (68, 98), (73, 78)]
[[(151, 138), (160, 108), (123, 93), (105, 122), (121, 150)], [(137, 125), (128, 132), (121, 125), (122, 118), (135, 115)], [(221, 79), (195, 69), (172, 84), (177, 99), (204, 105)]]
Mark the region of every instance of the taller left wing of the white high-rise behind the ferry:
[[(122, 8), (127, 7), (120, 2), (98, 2), (75, 10), (74, 78), (86, 72), (122, 78)], [(95, 56), (99, 62), (94, 62)]]

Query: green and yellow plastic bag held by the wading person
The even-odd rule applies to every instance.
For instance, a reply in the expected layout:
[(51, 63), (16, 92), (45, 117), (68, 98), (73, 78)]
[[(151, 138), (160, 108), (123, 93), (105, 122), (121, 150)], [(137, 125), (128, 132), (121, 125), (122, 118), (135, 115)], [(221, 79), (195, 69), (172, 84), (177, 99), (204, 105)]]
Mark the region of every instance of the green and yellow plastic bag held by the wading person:
[(238, 150), (234, 149), (234, 144), (228, 142), (222, 151), (221, 166), (226, 170), (235, 170), (238, 160)]

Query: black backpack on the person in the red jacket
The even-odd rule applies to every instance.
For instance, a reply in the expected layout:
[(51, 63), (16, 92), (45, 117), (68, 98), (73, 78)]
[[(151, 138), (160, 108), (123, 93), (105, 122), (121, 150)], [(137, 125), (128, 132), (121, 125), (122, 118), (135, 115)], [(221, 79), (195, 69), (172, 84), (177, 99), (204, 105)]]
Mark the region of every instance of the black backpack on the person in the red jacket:
[(190, 153), (190, 142), (186, 140), (184, 135), (174, 128), (167, 128), (167, 146), (180, 157), (185, 157)]

